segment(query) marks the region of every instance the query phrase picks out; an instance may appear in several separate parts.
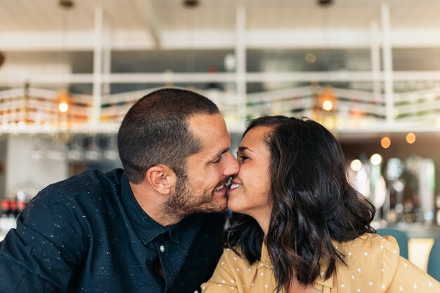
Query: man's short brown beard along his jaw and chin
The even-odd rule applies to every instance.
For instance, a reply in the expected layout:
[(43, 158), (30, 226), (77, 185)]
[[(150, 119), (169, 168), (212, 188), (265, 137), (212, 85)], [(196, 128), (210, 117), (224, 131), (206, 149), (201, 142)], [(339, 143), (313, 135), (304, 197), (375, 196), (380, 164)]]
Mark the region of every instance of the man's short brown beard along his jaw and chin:
[(195, 196), (195, 190), (197, 189), (190, 185), (188, 176), (178, 177), (174, 193), (164, 203), (164, 212), (183, 218), (200, 212), (222, 212), (226, 210), (226, 207), (217, 207), (213, 203), (212, 193)]

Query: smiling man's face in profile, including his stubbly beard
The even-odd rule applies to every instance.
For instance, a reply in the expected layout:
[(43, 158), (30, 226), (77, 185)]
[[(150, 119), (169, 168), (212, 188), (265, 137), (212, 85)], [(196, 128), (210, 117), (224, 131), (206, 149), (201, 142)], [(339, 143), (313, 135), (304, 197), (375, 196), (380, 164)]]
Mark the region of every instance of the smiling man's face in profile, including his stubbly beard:
[[(187, 158), (186, 177), (178, 178), (166, 205), (181, 215), (226, 210), (226, 183), (238, 172), (238, 161), (229, 152), (231, 137), (220, 114), (198, 114), (189, 130), (202, 149)], [(178, 151), (178, 150), (176, 150)]]

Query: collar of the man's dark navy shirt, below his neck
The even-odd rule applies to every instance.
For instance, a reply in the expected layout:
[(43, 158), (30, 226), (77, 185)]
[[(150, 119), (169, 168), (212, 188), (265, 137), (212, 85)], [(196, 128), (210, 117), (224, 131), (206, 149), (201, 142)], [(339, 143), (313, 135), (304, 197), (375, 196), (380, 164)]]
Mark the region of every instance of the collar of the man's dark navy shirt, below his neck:
[(157, 236), (164, 233), (168, 233), (169, 238), (174, 243), (180, 243), (181, 229), (178, 228), (179, 223), (171, 226), (162, 226), (148, 216), (134, 197), (125, 173), (121, 177), (121, 196), (129, 220), (144, 244), (151, 243)]

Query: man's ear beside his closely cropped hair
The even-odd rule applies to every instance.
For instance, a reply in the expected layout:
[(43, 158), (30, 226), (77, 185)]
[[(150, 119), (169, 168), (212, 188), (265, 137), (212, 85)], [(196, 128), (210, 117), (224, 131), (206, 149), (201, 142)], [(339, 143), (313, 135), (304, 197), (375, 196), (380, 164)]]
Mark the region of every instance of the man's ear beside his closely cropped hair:
[(176, 174), (166, 165), (154, 165), (147, 170), (148, 183), (164, 196), (171, 195), (176, 186)]

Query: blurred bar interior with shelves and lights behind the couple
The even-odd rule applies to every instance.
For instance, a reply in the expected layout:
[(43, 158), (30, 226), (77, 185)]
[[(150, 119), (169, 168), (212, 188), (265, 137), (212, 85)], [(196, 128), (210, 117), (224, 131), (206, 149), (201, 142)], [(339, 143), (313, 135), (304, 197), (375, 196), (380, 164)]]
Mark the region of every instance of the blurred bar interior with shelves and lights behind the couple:
[(216, 102), (233, 148), (261, 114), (325, 125), (376, 228), (406, 233), (426, 270), (416, 253), (440, 236), (439, 11), (436, 0), (0, 0), (2, 217), (52, 182), (121, 167), (125, 112), (174, 86)]

